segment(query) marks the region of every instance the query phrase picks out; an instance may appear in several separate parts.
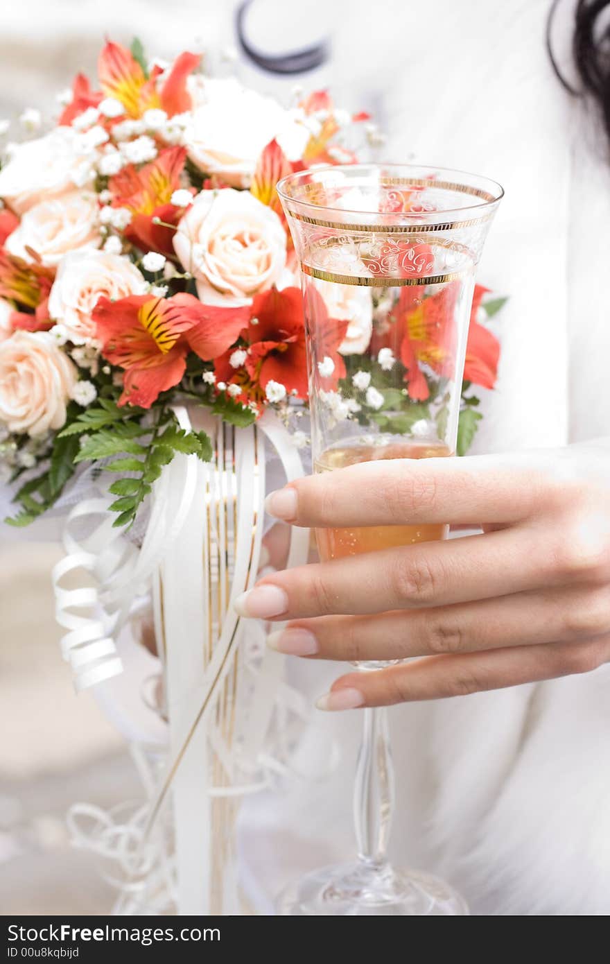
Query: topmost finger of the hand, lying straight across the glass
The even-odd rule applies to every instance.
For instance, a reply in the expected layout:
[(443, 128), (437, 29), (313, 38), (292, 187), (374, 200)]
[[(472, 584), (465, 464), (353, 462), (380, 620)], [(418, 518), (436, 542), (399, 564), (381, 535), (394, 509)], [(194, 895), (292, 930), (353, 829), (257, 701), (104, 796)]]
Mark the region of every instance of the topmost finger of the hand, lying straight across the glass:
[(272, 516), (307, 526), (517, 522), (544, 489), (543, 473), (514, 455), (387, 459), (297, 479), (265, 504)]

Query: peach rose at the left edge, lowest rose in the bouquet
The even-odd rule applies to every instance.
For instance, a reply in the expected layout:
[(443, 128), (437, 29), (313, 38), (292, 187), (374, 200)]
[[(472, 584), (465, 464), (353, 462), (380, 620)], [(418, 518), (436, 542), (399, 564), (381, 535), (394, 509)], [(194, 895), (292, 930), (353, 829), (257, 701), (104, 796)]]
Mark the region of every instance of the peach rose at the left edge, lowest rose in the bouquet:
[(46, 332), (15, 332), (0, 344), (0, 421), (33, 438), (66, 421), (76, 366)]

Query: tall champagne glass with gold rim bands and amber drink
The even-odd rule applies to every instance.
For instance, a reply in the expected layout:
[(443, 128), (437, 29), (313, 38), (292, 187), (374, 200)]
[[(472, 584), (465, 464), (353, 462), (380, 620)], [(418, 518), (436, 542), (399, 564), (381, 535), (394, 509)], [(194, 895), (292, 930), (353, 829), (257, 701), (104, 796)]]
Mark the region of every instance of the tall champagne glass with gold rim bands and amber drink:
[[(301, 266), (315, 471), (454, 454), (474, 274), (502, 194), (485, 177), (411, 165), (336, 165), (279, 182)], [(446, 534), (420, 523), (319, 529), (316, 538), (321, 558), (337, 560)], [(387, 714), (362, 717), (358, 860), (307, 874), (278, 912), (467, 914), (449, 885), (388, 863)]]

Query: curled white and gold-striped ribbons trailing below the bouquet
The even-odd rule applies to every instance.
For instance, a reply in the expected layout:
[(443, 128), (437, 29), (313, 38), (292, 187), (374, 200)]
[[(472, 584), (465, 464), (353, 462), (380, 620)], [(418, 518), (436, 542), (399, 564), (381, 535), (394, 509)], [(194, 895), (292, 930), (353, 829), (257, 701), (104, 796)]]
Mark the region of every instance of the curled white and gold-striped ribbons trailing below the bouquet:
[[(184, 409), (176, 409), (175, 414), (182, 428), (191, 429)], [(153, 582), (160, 644), (167, 629), (167, 652), (160, 645), (159, 655), (165, 661), (172, 750), (167, 763), (160, 763), (163, 773), (159, 767), (152, 772), (140, 761), (147, 802), (127, 813), (123, 809), (104, 813), (87, 804), (77, 804), (70, 812), (76, 845), (119, 865), (119, 876), (112, 877), (120, 891), (117, 913), (160, 913), (176, 901), (178, 912), (186, 913), (184, 894), (195, 892), (199, 896), (188, 910), (205, 912), (201, 879), (207, 872), (206, 850), (209, 854), (212, 845), (206, 801), (263, 790), (286, 774), (323, 777), (336, 765), (336, 744), (326, 743), (319, 770), (299, 773), (294, 749), (304, 723), (310, 721), (310, 708), (284, 682), (285, 657), (267, 649), (263, 624), (242, 623), (233, 607), (237, 596), (250, 589), (258, 576), (265, 496), (263, 435), (278, 454), (288, 481), (304, 474), (299, 451), (288, 430), (270, 413), (255, 427), (235, 432), (223, 430), (217, 422), (214, 432), (219, 446), (216, 464), (178, 455), (154, 484), (141, 549), (113, 527), (116, 515), (109, 512), (110, 499), (104, 495), (72, 510), (64, 537), (66, 558), (53, 571), (57, 618), (68, 630), (62, 652), (70, 662), (77, 690), (121, 672), (114, 639), (135, 598), (146, 592), (150, 576), (162, 573), (165, 583), (162, 598), (158, 579)], [(229, 438), (234, 450), (225, 451)], [(77, 534), (84, 524), (93, 525), (85, 538)], [(292, 529), (287, 564), (303, 564), (307, 554), (307, 530)], [(66, 588), (64, 580), (76, 571), (91, 576), (93, 584)], [(201, 577), (208, 580), (209, 596)], [(190, 608), (185, 607), (185, 593)], [(185, 608), (193, 618), (185, 615)], [(209, 626), (213, 650), (203, 667), (200, 654)], [(216, 708), (238, 646), (242, 680), (236, 709), (238, 738), (227, 742), (225, 731), (217, 725)], [(209, 779), (208, 752), (222, 767), (220, 785), (212, 785)], [(170, 787), (176, 815), (172, 857), (165, 817), (161, 817)], [(194, 808), (194, 800), (200, 808)], [(201, 838), (196, 834), (195, 842), (189, 839), (194, 828), (184, 826), (185, 820), (192, 822), (189, 815), (194, 813)], [(228, 878), (233, 880), (230, 873)], [(228, 896), (232, 890), (233, 884), (225, 884), (225, 908), (234, 907)]]

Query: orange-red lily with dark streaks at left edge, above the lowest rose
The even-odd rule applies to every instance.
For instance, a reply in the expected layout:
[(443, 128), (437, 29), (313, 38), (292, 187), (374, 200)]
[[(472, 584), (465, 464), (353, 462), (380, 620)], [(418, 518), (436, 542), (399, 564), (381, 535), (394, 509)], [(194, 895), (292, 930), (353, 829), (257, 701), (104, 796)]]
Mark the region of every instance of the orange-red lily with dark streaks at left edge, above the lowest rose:
[(0, 298), (6, 298), (17, 307), (12, 319), (13, 328), (25, 328), (30, 332), (50, 328), (47, 303), (54, 279), (52, 268), (36, 261), (31, 264), (0, 249)]

